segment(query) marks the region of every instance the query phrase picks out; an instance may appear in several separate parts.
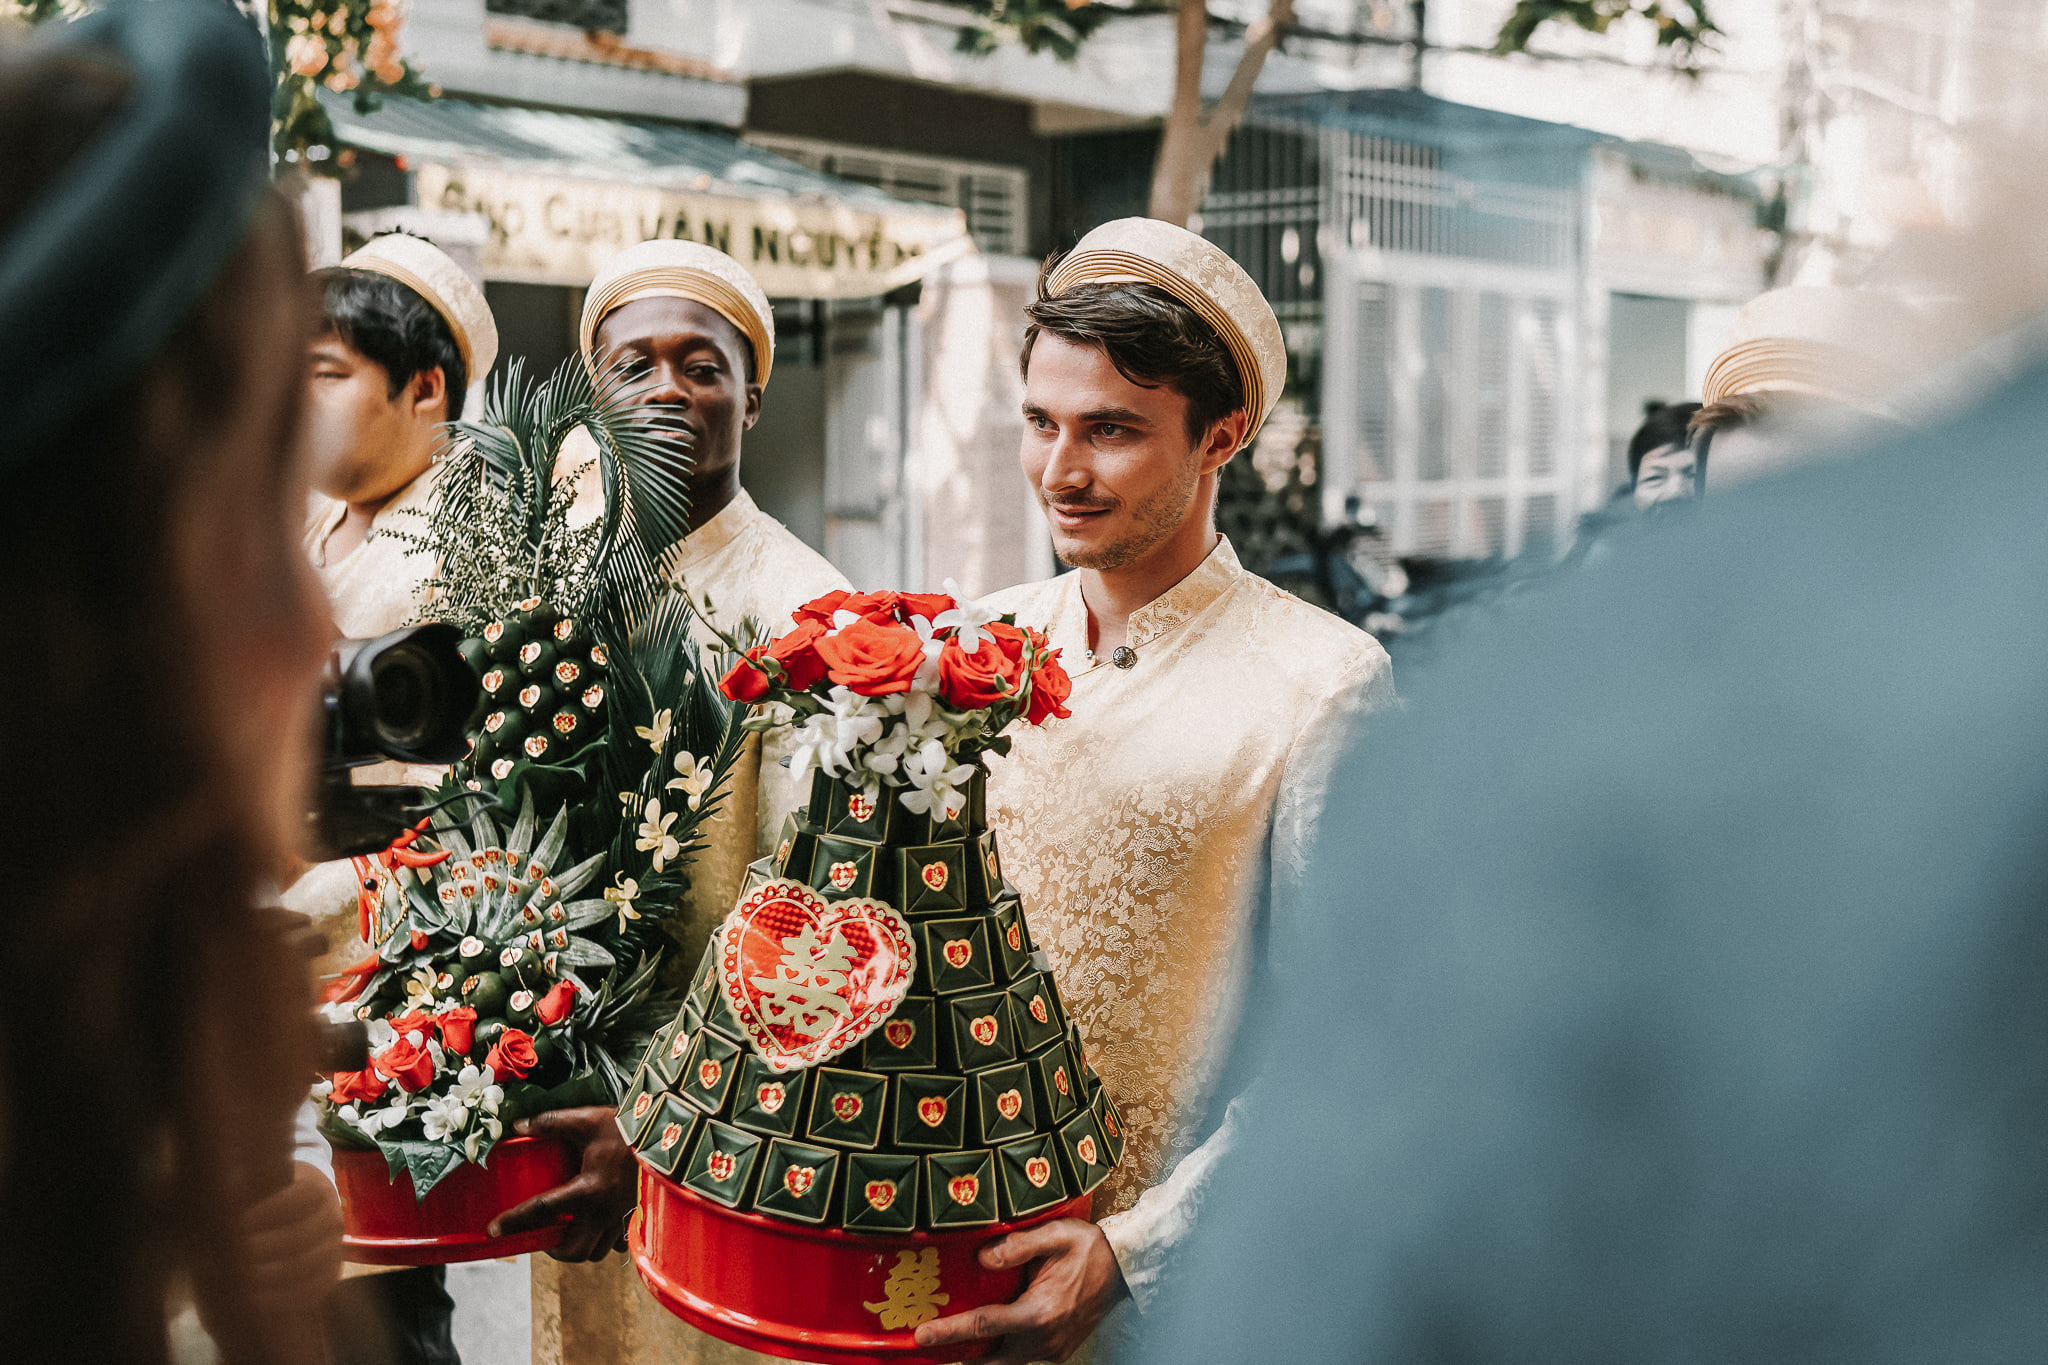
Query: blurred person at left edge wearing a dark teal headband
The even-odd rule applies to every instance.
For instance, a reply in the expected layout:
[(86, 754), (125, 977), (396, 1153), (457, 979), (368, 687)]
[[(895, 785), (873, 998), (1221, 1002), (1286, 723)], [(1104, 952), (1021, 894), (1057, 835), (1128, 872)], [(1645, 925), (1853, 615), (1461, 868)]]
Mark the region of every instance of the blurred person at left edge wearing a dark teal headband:
[(180, 1285), (223, 1359), (303, 1359), (334, 1281), (332, 1187), (291, 1164), (305, 958), (254, 909), (328, 653), (268, 98), (248, 23), (193, 0), (0, 51), (10, 1359), (162, 1361)]

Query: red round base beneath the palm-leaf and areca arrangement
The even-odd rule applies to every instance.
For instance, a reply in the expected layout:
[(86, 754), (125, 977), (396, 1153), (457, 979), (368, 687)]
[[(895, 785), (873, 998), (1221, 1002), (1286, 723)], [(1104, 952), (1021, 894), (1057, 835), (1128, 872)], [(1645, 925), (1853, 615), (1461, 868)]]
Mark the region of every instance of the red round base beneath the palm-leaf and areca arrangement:
[(489, 1261), (561, 1242), (567, 1220), (514, 1236), (485, 1228), (506, 1209), (575, 1175), (569, 1152), (551, 1138), (506, 1138), (485, 1164), (463, 1162), (426, 1199), (412, 1197), (412, 1177), (389, 1175), (383, 1152), (334, 1152), (342, 1195), (342, 1254), (360, 1265), (449, 1265)]

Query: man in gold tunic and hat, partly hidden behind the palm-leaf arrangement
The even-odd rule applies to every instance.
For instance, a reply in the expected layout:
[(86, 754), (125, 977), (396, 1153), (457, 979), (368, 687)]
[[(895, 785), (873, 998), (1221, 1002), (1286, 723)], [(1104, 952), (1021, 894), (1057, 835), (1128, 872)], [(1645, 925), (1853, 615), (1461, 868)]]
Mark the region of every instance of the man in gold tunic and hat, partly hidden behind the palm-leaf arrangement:
[[(791, 628), (791, 612), (846, 577), (760, 510), (739, 483), (748, 430), (760, 420), (774, 370), (774, 309), (745, 266), (698, 241), (655, 239), (608, 260), (584, 297), (584, 364), (602, 372), (645, 366), (641, 403), (676, 409), (690, 432), (690, 534), (664, 567), (721, 630), (748, 618), (770, 634)], [(602, 505), (596, 442), (575, 432), (563, 442), (557, 479), (578, 477), (575, 518)], [(698, 630), (709, 643), (709, 632)], [(770, 743), (750, 735), (725, 788), (725, 804), (705, 823), (707, 847), (690, 864), (678, 945), (664, 958), (674, 984), (688, 982), (711, 931), (733, 909), (750, 862), (774, 847), (782, 817), (809, 794), (780, 763), (784, 731)], [(494, 1232), (539, 1228), (573, 1214), (569, 1236), (532, 1259), (539, 1324), (537, 1365), (670, 1365), (756, 1361), (662, 1308), (631, 1261), (604, 1263), (621, 1246), (639, 1197), (639, 1164), (610, 1107), (557, 1109), (520, 1119), (516, 1132), (559, 1138), (582, 1152), (575, 1179), (508, 1209)], [(604, 1265), (578, 1265), (604, 1263)]]

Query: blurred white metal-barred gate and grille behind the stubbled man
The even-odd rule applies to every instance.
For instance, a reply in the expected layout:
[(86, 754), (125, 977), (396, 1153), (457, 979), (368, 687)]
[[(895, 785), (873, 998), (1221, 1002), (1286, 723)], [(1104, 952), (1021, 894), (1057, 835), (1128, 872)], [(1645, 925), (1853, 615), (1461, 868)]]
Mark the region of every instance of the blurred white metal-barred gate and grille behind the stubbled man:
[[(1575, 471), (1577, 162), (1458, 174), (1442, 147), (1253, 115), (1200, 229), (1272, 299), (1319, 411), (1325, 514), (1405, 555), (1554, 553)], [(1520, 180), (1536, 180), (1524, 184)]]

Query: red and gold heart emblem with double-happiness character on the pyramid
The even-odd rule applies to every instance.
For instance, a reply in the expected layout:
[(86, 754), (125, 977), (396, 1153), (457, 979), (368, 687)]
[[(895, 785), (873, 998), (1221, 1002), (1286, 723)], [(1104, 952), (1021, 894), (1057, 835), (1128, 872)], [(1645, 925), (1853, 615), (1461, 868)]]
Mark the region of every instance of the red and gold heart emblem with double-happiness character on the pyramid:
[(727, 1007), (778, 1072), (827, 1062), (881, 1027), (918, 964), (909, 925), (887, 905), (831, 902), (786, 878), (733, 907), (717, 952)]

